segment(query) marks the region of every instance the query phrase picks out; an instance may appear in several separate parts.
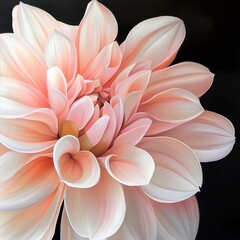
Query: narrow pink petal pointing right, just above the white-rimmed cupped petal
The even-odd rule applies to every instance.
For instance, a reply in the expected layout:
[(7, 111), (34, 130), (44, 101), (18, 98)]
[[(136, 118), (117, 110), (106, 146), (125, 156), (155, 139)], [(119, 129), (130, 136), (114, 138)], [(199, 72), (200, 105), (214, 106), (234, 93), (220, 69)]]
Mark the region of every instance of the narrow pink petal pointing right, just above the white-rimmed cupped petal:
[(138, 144), (146, 134), (151, 123), (152, 121), (150, 119), (142, 118), (129, 124), (126, 128), (123, 128), (119, 136), (114, 140), (114, 145), (123, 143)]

